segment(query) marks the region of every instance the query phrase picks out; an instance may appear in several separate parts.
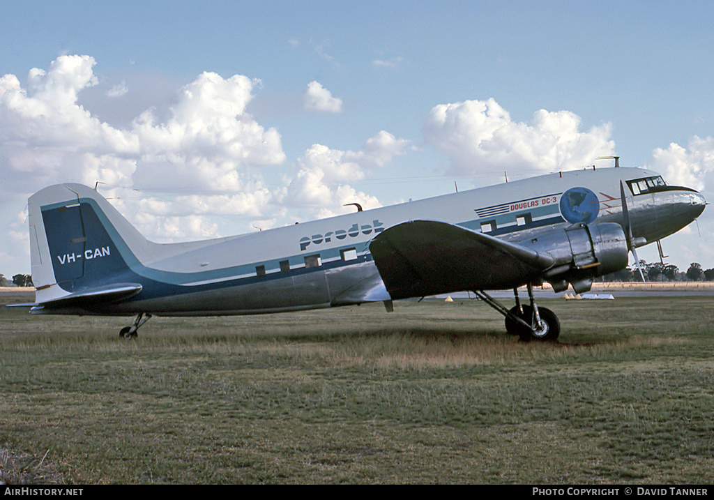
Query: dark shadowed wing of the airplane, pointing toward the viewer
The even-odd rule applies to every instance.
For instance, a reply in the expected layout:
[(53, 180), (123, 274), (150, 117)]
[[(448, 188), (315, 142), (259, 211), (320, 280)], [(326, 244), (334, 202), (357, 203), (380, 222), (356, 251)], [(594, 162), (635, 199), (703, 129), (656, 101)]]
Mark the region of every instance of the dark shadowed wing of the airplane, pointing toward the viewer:
[(549, 254), (440, 221), (392, 226), (369, 249), (392, 299), (515, 288), (555, 263)]

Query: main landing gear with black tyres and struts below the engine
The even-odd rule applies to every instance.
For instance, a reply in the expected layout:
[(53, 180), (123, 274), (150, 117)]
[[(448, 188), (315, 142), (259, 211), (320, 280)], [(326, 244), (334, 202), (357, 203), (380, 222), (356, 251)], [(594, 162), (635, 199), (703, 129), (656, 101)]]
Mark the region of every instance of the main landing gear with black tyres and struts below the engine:
[(533, 299), (533, 285), (528, 284), (528, 299), (531, 305), (524, 306), (518, 299), (518, 289), (513, 289), (516, 296), (516, 306), (506, 309), (485, 291), (475, 291), (479, 299), (483, 300), (496, 311), (506, 316), (506, 331), (511, 335), (518, 335), (521, 341), (555, 340), (560, 335), (560, 321), (553, 311), (545, 307), (538, 307)]

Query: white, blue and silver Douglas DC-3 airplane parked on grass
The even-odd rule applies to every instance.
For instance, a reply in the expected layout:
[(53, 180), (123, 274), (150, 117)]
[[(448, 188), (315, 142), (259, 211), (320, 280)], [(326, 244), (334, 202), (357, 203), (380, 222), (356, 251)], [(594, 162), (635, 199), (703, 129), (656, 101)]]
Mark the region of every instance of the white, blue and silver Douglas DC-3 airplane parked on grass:
[[(694, 221), (697, 191), (654, 171), (563, 171), (290, 226), (186, 243), (142, 236), (95, 189), (28, 200), (32, 314), (227, 316), (471, 291), (523, 341), (554, 340), (558, 317), (533, 286), (589, 291), (636, 248)], [(528, 303), (518, 288), (526, 286)], [(508, 307), (488, 291), (513, 289)]]

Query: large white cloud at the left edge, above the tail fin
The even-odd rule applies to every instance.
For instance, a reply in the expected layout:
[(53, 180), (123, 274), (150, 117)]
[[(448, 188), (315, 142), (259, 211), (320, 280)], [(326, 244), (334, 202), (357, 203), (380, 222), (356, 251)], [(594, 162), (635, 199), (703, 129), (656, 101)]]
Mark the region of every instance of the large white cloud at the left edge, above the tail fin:
[(101, 170), (104, 160), (120, 176), (133, 171), (139, 138), (77, 104), (79, 92), (97, 82), (94, 64), (90, 56), (61, 56), (49, 71), (29, 71), (26, 88), (14, 75), (0, 78), (0, 166), (14, 173), (4, 191), (23, 192), (36, 182), (89, 184), (86, 174)]

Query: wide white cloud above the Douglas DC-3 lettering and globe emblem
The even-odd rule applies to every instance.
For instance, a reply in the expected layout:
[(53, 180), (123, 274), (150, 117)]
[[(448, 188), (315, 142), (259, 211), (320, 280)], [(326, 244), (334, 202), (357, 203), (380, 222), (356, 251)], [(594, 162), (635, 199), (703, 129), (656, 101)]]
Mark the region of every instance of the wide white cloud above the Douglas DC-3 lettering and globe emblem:
[(506, 169), (553, 171), (613, 154), (610, 124), (580, 131), (570, 111), (540, 109), (530, 123), (511, 120), (494, 99), (440, 104), (429, 112), (424, 139), (447, 154), (451, 173)]

